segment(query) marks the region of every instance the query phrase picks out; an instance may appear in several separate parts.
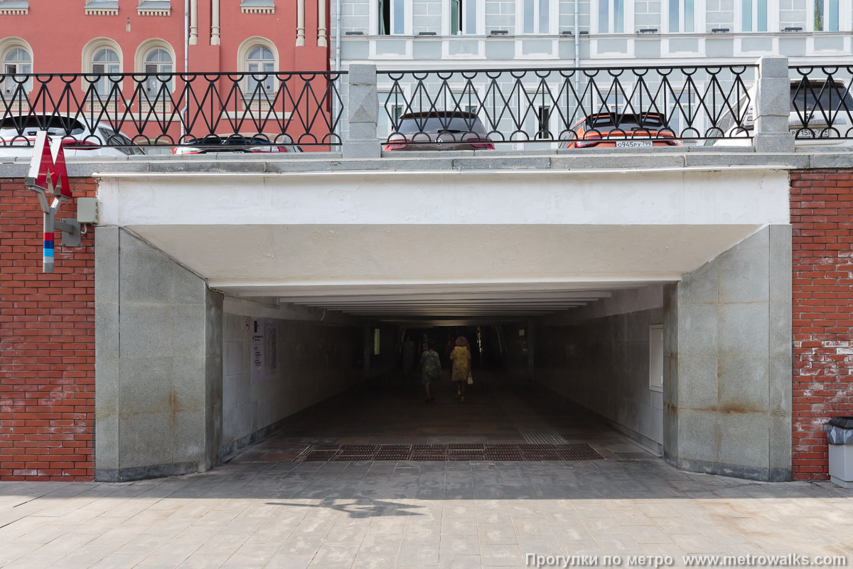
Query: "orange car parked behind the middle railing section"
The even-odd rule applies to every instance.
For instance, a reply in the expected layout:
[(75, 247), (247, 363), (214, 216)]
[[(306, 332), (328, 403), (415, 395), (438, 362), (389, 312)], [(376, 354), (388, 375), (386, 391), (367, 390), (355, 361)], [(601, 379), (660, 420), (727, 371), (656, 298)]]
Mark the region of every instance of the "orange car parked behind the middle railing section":
[(578, 120), (572, 131), (577, 137), (562, 142), (560, 148), (682, 146), (658, 113), (589, 114)]

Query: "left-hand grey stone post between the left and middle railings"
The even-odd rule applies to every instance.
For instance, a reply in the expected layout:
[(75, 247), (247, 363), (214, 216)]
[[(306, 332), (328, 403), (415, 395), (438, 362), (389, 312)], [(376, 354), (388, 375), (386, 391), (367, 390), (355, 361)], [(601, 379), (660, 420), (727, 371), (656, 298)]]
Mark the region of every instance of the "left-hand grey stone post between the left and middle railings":
[(379, 95), (376, 92), (376, 66), (351, 63), (346, 108), (350, 134), (344, 141), (344, 158), (379, 158), (382, 155), (376, 134), (379, 120)]

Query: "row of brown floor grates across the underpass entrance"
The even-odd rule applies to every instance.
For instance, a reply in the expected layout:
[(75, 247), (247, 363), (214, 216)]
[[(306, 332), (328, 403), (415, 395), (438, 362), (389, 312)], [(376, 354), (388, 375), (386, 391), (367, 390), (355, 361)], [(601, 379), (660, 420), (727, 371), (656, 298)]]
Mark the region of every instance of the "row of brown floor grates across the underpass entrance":
[(598, 461), (603, 458), (585, 443), (315, 444), (294, 462)]

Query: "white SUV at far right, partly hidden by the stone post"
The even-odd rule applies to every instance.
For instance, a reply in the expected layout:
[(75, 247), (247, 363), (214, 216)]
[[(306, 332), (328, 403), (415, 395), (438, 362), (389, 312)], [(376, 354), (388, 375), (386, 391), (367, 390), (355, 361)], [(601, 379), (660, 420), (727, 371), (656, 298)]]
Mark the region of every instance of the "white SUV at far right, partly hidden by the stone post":
[[(720, 118), (720, 137), (709, 138), (705, 146), (750, 146), (755, 100), (753, 85)], [(853, 136), (853, 98), (844, 83), (832, 78), (791, 79), (788, 131), (797, 136), (797, 146), (853, 146), (853, 140), (838, 137)]]

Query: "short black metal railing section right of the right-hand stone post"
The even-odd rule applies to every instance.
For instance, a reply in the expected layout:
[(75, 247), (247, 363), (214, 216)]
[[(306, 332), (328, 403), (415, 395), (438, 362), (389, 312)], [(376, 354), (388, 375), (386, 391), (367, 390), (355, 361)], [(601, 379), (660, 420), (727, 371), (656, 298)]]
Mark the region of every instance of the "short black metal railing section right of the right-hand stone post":
[(791, 67), (788, 129), (798, 139), (853, 138), (853, 67)]

